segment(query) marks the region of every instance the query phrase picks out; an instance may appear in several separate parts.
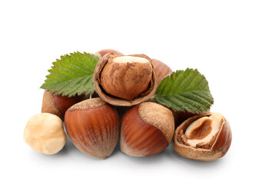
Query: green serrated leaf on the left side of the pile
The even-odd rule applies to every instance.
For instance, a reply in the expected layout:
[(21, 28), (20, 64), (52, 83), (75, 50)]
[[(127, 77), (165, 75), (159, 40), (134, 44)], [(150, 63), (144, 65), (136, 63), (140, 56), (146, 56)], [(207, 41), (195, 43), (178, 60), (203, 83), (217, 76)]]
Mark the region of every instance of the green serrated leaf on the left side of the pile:
[(94, 54), (74, 52), (53, 62), (42, 89), (52, 94), (72, 97), (76, 94), (93, 93), (93, 73), (99, 58)]

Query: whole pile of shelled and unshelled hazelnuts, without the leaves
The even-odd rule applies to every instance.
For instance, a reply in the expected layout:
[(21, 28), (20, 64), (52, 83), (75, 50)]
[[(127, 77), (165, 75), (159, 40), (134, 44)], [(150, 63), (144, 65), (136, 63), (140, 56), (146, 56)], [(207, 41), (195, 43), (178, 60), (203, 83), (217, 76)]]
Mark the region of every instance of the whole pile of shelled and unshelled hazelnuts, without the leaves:
[[(173, 140), (189, 159), (221, 158), (231, 145), (231, 127), (221, 113), (175, 112), (156, 104), (155, 94), (171, 68), (145, 54), (124, 55), (106, 49), (94, 72), (97, 93), (62, 97), (45, 90), (42, 113), (28, 120), (24, 140), (38, 153), (58, 153), (66, 142), (88, 156), (106, 159), (120, 138), (130, 156), (152, 156)], [(65, 122), (65, 130), (63, 127)]]

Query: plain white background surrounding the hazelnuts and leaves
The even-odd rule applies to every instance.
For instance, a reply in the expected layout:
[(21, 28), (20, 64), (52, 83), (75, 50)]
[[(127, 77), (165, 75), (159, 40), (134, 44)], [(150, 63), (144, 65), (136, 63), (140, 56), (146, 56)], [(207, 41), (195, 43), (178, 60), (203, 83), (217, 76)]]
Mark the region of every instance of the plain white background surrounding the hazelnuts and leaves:
[[(255, 1), (1, 1), (0, 33), (0, 183), (255, 182)], [(53, 156), (26, 145), (23, 130), (40, 113), (39, 87), (52, 62), (104, 48), (148, 54), (173, 71), (198, 68), (214, 97), (211, 110), (231, 124), (227, 155), (204, 163), (170, 145), (135, 158), (117, 147), (98, 160), (70, 140)]]

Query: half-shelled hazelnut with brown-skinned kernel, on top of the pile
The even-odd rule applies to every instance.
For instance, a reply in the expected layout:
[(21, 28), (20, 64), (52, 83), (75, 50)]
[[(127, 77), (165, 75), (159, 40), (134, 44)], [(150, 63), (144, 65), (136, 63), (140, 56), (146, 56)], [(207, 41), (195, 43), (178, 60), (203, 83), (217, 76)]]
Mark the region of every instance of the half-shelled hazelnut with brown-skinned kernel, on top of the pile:
[(94, 74), (98, 95), (116, 106), (132, 106), (150, 99), (157, 88), (151, 59), (145, 54), (105, 54)]

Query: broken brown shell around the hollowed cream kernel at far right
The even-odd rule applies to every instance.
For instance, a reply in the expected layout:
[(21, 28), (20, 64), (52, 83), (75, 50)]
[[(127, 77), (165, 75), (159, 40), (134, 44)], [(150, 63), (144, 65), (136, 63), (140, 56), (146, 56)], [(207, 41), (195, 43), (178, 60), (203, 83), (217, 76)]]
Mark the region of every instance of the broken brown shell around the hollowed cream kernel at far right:
[(175, 136), (173, 140), (173, 146), (178, 154), (188, 159), (213, 161), (215, 159), (221, 158), (228, 152), (228, 149), (231, 146), (232, 134), (231, 127), (226, 119), (224, 119), (223, 123), (221, 124), (221, 129), (218, 132), (216, 139), (214, 140), (214, 143), (212, 143), (210, 149), (194, 148), (185, 145), (185, 143), (182, 143), (181, 136), (184, 135), (185, 130), (191, 123), (201, 117), (210, 116), (211, 113), (200, 114), (185, 120), (185, 122), (178, 126), (178, 128), (175, 130)]

